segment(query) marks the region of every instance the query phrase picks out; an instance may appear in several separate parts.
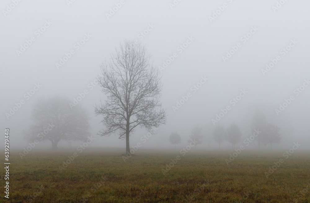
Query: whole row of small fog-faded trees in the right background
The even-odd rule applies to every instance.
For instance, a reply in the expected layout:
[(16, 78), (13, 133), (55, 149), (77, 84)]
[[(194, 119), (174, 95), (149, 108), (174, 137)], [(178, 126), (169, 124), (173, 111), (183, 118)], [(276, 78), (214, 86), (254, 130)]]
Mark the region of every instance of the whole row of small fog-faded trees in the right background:
[[(281, 141), (280, 128), (277, 125), (273, 125), (271, 123), (267, 123), (266, 116), (259, 110), (256, 110), (254, 118), (251, 122), (251, 135), (255, 134), (255, 142), (258, 148), (263, 144), (264, 146), (270, 144), (270, 149), (272, 149), (272, 144), (279, 144)], [(259, 132), (259, 133), (257, 133)], [(202, 143), (203, 134), (201, 132), (201, 128), (196, 126), (192, 129), (191, 135), (189, 136), (190, 140), (188, 142), (192, 142), (195, 140), (195, 148), (196, 145)], [(223, 125), (217, 125), (213, 132), (212, 138), (213, 140), (219, 144), (219, 149), (221, 149), (221, 144), (225, 141), (228, 141), (232, 144), (232, 149), (235, 149), (235, 145), (240, 143), (242, 137), (242, 133), (240, 127), (232, 123), (228, 127), (224, 127)], [(171, 144), (175, 146), (181, 143), (181, 136), (177, 132), (173, 132), (169, 136), (169, 141)]]

